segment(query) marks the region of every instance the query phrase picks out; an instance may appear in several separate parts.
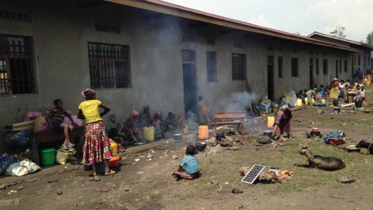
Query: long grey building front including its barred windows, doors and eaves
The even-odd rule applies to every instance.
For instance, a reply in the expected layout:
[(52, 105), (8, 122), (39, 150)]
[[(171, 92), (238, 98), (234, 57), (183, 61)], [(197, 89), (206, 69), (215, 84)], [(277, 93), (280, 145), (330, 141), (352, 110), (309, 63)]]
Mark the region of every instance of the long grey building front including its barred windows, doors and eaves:
[[(117, 120), (143, 105), (153, 114), (186, 115), (195, 111), (197, 96), (210, 114), (241, 111), (251, 98), (277, 100), (284, 92), (328, 85), (336, 74), (349, 79), (352, 53), (363, 53), (158, 0), (1, 5), (2, 127), (53, 107), (57, 98), (77, 113), (86, 88)], [(10, 149), (0, 141), (0, 153)]]

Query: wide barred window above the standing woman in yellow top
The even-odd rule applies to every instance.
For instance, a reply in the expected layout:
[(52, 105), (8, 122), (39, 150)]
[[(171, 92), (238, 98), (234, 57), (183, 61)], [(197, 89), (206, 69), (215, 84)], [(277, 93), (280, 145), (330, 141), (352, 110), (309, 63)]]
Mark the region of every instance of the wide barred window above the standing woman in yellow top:
[(128, 45), (88, 42), (92, 89), (131, 87)]

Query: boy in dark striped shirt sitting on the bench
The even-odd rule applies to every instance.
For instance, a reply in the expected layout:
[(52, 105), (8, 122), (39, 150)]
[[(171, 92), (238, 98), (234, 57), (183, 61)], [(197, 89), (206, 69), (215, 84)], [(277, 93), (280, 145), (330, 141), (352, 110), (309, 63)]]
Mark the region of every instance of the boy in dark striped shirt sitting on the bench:
[[(62, 144), (62, 149), (69, 149), (75, 146), (75, 144), (72, 144), (70, 142), (70, 132), (73, 130), (74, 125), (78, 126), (71, 117), (71, 115), (66, 112), (66, 110), (63, 108), (64, 103), (60, 99), (54, 100), (53, 104), (55, 105), (54, 108), (50, 109), (48, 116), (46, 117), (46, 120), (48, 122), (48, 127), (52, 129), (57, 130), (64, 130), (65, 133), (65, 141)], [(65, 116), (69, 117), (69, 119), (72, 122), (72, 125), (68, 125), (64, 123)]]

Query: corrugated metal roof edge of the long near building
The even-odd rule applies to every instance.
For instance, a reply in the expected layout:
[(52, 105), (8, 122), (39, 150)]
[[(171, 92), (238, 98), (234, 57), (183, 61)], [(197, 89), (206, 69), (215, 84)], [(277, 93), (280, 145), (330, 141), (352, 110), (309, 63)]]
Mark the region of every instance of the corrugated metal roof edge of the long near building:
[[(124, 4), (124, 5), (133, 5), (131, 3), (131, 1), (134, 1), (134, 0), (105, 0), (105, 1), (120, 3), (120, 4)], [(358, 49), (355, 49), (355, 48), (346, 47), (346, 46), (338, 45), (338, 44), (333, 44), (333, 43), (330, 43), (330, 42), (320, 41), (320, 40), (313, 39), (313, 38), (310, 38), (310, 37), (296, 35), (296, 34), (293, 34), (293, 33), (288, 33), (288, 32), (285, 32), (285, 31), (280, 31), (280, 30), (276, 30), (276, 29), (272, 29), (272, 28), (267, 28), (267, 27), (255, 25), (255, 24), (252, 24), (252, 23), (244, 22), (244, 21), (235, 20), (235, 19), (211, 14), (211, 13), (200, 11), (200, 10), (197, 10), (197, 9), (188, 8), (188, 7), (177, 5), (177, 4), (174, 4), (174, 3), (169, 3), (169, 2), (166, 2), (166, 1), (162, 1), (162, 0), (135, 0), (135, 1), (143, 1), (143, 2), (147, 2), (147, 3), (151, 3), (151, 4), (160, 5), (160, 6), (163, 6), (163, 7), (166, 7), (166, 8), (181, 10), (181, 11), (185, 11), (185, 12), (188, 12), (188, 13), (193, 13), (195, 15), (202, 15), (202, 16), (213, 18), (213, 19), (223, 20), (223, 21), (226, 21), (226, 22), (229, 22), (229, 23), (240, 24), (240, 25), (245, 26), (245, 27), (249, 27), (249, 28), (259, 30), (259, 32), (254, 31), (256, 33), (262, 33), (262, 34), (266, 34), (266, 35), (270, 35), (270, 36), (280, 37), (280, 38), (283, 38), (283, 39), (290, 39), (290, 40), (294, 40), (294, 41), (306, 42), (306, 43), (322, 45), (322, 46), (327, 46), (327, 47), (332, 47), (332, 48), (338, 48), (338, 49), (343, 49), (343, 50), (348, 50), (348, 51), (353, 51), (353, 52), (361, 52), (361, 50), (358, 50)], [(137, 5), (137, 6), (141, 7), (139, 5)], [(144, 8), (144, 9), (146, 9), (146, 8)], [(161, 11), (159, 11), (159, 12), (161, 12)], [(214, 24), (214, 23), (212, 23), (212, 24)], [(229, 27), (229, 26), (226, 26), (226, 27)], [(241, 30), (244, 30), (244, 29), (241, 29)], [(250, 31), (250, 30), (247, 29), (247, 31)]]

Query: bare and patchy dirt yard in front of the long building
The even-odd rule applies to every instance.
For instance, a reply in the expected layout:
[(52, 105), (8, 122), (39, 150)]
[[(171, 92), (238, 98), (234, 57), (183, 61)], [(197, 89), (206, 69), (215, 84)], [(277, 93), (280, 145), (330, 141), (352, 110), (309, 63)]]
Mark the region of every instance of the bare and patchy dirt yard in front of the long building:
[[(367, 94), (371, 96), (371, 93)], [(331, 102), (328, 102), (329, 105)], [(324, 113), (317, 114), (322, 109)], [(352, 110), (351, 107), (343, 110)], [(327, 145), (323, 140), (306, 139), (304, 131), (318, 127), (322, 134), (331, 130), (346, 133), (348, 144), (369, 139), (372, 133), (372, 113), (329, 113), (330, 107), (306, 107), (293, 112), (291, 132), (294, 138), (273, 149), (273, 144), (256, 146), (256, 139), (266, 127), (265, 118), (255, 118), (246, 125), (245, 145), (239, 150), (207, 148), (199, 153), (201, 177), (197, 180), (176, 181), (171, 174), (177, 169), (185, 155), (188, 143), (196, 139), (190, 135), (177, 143), (168, 143), (138, 154), (123, 156), (118, 171), (113, 176), (101, 176), (98, 182), (90, 181), (82, 166), (78, 170), (67, 170), (52, 176), (41, 177), (8, 187), (0, 191), (0, 207), (7, 210), (19, 209), (304, 209), (304, 210), (365, 210), (372, 209), (367, 202), (373, 194), (373, 156), (347, 153), (343, 146)], [(372, 139), (370, 139), (372, 141)], [(346, 144), (346, 145), (348, 145)], [(296, 167), (294, 163), (305, 163), (306, 158), (298, 150), (308, 145), (312, 152), (323, 156), (339, 157), (346, 163), (345, 169), (327, 172), (317, 169)], [(167, 154), (164, 154), (166, 151)], [(214, 152), (215, 151), (215, 152)], [(153, 154), (147, 159), (148, 153)], [(179, 159), (172, 159), (177, 155)], [(135, 159), (139, 161), (135, 161)], [(239, 169), (254, 164), (276, 166), (294, 172), (281, 184), (241, 182)], [(75, 167), (66, 165), (67, 168)], [(268, 169), (268, 167), (266, 168)], [(342, 184), (338, 179), (353, 176), (356, 182)], [(56, 181), (58, 180), (58, 181)], [(212, 185), (216, 180), (218, 185)], [(56, 181), (48, 183), (51, 181)], [(1, 182), (1, 180), (0, 180)], [(23, 189), (18, 190), (20, 186)], [(221, 191), (218, 188), (221, 186)], [(232, 187), (243, 190), (233, 194)], [(8, 194), (11, 190), (17, 191)], [(62, 191), (62, 195), (57, 195)]]

